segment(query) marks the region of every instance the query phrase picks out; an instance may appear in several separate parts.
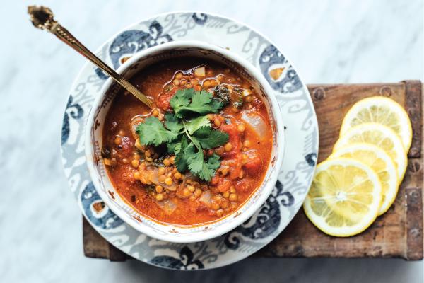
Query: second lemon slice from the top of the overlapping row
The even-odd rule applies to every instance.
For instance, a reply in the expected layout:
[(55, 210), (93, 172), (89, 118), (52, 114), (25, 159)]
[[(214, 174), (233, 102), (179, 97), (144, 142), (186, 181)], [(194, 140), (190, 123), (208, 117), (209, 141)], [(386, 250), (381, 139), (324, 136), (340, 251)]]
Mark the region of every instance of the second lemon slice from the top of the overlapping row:
[(358, 142), (374, 144), (386, 151), (394, 161), (399, 182), (404, 178), (408, 158), (406, 157), (401, 139), (392, 129), (377, 123), (360, 124), (343, 134), (334, 145), (333, 151), (337, 151), (349, 144), (357, 144)]

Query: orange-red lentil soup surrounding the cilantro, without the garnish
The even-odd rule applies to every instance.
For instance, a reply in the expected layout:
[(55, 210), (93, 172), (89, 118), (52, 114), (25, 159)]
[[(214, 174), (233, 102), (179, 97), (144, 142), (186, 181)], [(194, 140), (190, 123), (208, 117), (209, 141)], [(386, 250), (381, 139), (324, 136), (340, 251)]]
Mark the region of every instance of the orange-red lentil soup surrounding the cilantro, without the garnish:
[[(194, 70), (202, 67), (205, 76), (197, 76)], [(273, 144), (262, 94), (249, 81), (223, 64), (184, 57), (153, 64), (136, 74), (131, 82), (153, 98), (155, 108), (150, 110), (121, 91), (107, 112), (102, 134), (107, 173), (126, 202), (155, 221), (196, 225), (217, 221), (249, 199), (264, 179)], [(206, 156), (214, 152), (220, 156), (220, 168), (210, 182), (188, 171), (178, 172), (175, 157), (167, 154), (163, 146), (140, 144), (134, 132), (137, 123), (150, 115), (163, 119), (163, 114), (172, 110), (169, 100), (178, 89), (214, 93), (217, 87), (228, 89), (230, 103), (208, 118), (214, 129), (228, 133), (231, 146), (225, 144), (204, 151)], [(257, 119), (262, 127), (258, 130), (242, 117)], [(167, 178), (172, 185), (167, 185)]]

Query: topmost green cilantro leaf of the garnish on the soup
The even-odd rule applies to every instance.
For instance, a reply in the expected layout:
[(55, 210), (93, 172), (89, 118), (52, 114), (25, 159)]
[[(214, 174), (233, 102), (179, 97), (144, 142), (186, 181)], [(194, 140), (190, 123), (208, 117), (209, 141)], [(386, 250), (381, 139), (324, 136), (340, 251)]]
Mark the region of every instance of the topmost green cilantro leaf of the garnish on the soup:
[[(171, 98), (170, 105), (177, 117), (183, 117), (192, 112), (201, 115), (216, 113), (223, 108), (223, 103), (219, 100), (212, 99), (212, 93), (208, 93), (207, 91), (194, 91), (192, 88), (189, 88), (179, 92), (177, 98), (175, 98), (176, 96), (177, 94)], [(172, 101), (174, 98), (175, 100)], [(189, 101), (190, 98), (192, 98), (191, 102)]]

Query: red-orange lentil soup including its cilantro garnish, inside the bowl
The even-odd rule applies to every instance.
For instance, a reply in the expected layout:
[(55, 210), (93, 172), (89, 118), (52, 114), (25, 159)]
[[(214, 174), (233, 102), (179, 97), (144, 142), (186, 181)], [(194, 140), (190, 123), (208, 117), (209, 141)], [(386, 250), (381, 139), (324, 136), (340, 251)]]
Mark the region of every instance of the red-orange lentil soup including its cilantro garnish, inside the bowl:
[(196, 225), (249, 199), (273, 146), (260, 91), (237, 71), (196, 57), (153, 64), (131, 83), (155, 108), (121, 91), (102, 131), (106, 171), (126, 202), (161, 223)]

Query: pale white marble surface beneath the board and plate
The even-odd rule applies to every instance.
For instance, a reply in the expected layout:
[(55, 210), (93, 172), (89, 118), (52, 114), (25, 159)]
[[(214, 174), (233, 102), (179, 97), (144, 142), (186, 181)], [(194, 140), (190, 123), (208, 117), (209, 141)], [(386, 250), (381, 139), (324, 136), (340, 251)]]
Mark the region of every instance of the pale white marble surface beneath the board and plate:
[(4, 0), (0, 282), (423, 282), (423, 262), (404, 260), (247, 259), (188, 273), (84, 258), (81, 212), (67, 189), (59, 152), (67, 93), (84, 60), (30, 25), (25, 6), (33, 2), (51, 6), (91, 49), (141, 18), (192, 9), (257, 28), (284, 50), (307, 83), (423, 79), (419, 0)]

